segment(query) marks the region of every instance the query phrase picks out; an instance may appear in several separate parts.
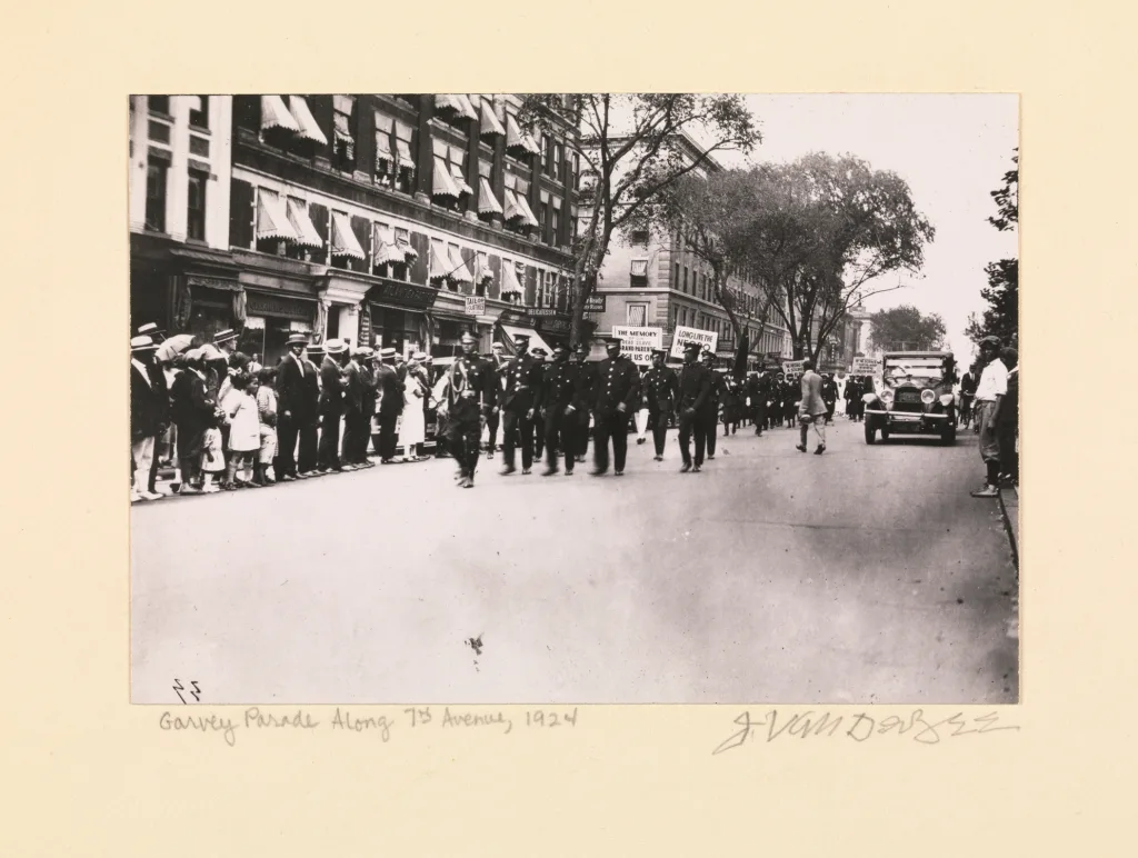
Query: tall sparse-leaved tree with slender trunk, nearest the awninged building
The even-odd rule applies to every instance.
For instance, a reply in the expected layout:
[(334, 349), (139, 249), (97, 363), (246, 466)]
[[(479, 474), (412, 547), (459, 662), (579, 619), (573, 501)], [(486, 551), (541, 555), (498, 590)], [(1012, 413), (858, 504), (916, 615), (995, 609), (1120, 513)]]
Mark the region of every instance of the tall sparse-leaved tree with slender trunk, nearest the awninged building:
[[(576, 143), (583, 164), (580, 205), (587, 208), (572, 247), (570, 339), (577, 344), (585, 302), (596, 289), (612, 234), (645, 201), (702, 168), (715, 152), (750, 151), (761, 138), (742, 96), (732, 94), (528, 96), (519, 119), (553, 130), (567, 115), (580, 132)], [(695, 142), (692, 132), (702, 132), (710, 142)]]

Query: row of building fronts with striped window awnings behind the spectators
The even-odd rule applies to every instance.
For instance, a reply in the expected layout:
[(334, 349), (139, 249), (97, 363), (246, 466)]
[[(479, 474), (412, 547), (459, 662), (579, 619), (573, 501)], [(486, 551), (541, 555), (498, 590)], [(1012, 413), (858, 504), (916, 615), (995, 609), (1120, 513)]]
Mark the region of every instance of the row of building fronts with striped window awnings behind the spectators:
[(267, 363), (295, 331), (436, 356), (568, 337), (569, 123), (527, 132), (513, 96), (208, 97), (199, 199), (195, 98), (131, 102), (134, 324), (236, 328)]

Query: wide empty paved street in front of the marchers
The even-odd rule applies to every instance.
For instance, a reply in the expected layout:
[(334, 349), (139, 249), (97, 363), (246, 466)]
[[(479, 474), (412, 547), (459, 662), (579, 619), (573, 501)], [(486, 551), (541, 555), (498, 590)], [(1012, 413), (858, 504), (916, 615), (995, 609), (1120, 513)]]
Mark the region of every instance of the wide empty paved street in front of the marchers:
[(135, 505), (133, 700), (1015, 702), (974, 436), (838, 420), (823, 456), (748, 429), (699, 475), (673, 432), (621, 478), (432, 460)]

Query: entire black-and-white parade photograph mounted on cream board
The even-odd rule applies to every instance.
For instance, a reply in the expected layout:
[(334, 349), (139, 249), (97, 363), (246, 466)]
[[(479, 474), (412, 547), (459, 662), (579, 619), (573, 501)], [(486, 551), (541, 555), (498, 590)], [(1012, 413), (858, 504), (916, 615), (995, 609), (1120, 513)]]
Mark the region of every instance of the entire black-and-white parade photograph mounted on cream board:
[(130, 97), (131, 702), (1020, 702), (1019, 112)]

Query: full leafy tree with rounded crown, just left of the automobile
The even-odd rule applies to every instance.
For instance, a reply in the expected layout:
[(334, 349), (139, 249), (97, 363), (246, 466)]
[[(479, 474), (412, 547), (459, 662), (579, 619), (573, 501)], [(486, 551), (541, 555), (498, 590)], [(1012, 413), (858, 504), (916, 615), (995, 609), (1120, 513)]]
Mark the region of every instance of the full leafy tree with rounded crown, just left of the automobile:
[(764, 165), (753, 181), (748, 259), (791, 333), (795, 358), (817, 360), (849, 307), (901, 288), (877, 283), (920, 270), (935, 236), (900, 176), (850, 155)]

